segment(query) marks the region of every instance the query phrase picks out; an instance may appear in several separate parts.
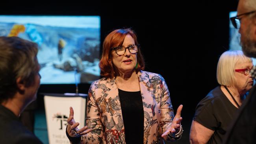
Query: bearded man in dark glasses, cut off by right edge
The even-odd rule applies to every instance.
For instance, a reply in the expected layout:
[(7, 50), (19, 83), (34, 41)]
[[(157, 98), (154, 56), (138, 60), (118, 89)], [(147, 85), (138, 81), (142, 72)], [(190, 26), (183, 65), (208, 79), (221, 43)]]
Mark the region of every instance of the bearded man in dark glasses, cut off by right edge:
[[(239, 0), (237, 16), (230, 19), (234, 27), (239, 29), (244, 54), (256, 58), (256, 0)], [(256, 66), (250, 74), (256, 78)], [(231, 126), (224, 138), (224, 144), (256, 142), (256, 86), (250, 90)]]

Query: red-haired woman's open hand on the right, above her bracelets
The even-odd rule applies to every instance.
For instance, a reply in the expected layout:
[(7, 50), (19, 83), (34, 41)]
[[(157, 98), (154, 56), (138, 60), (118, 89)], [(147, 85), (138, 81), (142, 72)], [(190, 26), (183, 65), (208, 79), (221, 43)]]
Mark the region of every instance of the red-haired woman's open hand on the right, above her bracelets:
[(182, 117), (180, 117), (181, 115), (181, 110), (182, 110), (183, 105), (180, 105), (177, 109), (177, 113), (173, 118), (173, 123), (171, 124), (171, 126), (167, 129), (167, 131), (165, 131), (161, 137), (164, 137), (166, 135), (168, 135), (169, 133), (175, 133), (176, 131), (178, 131), (180, 129), (180, 122), (182, 121)]

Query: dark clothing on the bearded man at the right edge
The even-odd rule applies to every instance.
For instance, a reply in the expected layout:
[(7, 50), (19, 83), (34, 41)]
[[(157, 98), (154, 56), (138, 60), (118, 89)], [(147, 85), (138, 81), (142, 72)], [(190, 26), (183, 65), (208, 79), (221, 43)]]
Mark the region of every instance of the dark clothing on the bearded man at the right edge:
[(234, 121), (225, 135), (223, 144), (255, 144), (256, 142), (256, 85), (252, 87)]

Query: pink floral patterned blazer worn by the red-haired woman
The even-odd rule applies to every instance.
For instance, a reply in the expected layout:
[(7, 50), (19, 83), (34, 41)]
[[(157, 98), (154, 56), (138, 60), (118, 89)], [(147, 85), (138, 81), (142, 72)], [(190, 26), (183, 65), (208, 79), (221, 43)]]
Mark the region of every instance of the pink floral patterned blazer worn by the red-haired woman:
[[(144, 144), (164, 143), (161, 134), (174, 118), (170, 94), (160, 74), (138, 72), (144, 109)], [(124, 123), (115, 78), (91, 84), (87, 100), (86, 125), (93, 128), (82, 143), (125, 144)], [(166, 140), (173, 140), (165, 137)]]

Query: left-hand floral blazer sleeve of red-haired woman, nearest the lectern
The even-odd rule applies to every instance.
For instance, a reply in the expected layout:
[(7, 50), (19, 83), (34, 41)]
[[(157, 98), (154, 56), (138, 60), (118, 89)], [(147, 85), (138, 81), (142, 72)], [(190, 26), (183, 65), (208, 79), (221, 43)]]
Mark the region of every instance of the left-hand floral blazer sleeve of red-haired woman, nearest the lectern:
[(95, 99), (95, 85), (91, 84), (87, 97), (86, 126), (93, 130), (81, 138), (81, 143), (101, 144), (104, 125), (100, 119), (100, 112)]

